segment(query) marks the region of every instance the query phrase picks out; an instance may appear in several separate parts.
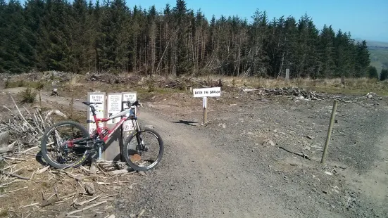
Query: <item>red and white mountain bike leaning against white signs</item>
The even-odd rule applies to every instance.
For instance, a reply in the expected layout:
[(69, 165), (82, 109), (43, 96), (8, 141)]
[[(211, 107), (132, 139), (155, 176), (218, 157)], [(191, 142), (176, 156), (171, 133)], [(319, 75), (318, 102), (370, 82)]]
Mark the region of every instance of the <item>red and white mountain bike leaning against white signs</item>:
[[(163, 140), (154, 129), (140, 128), (136, 113), (139, 101), (123, 101), (127, 108), (108, 118), (96, 117), (94, 105), (101, 103), (82, 103), (92, 111), (96, 129), (89, 134), (82, 124), (74, 121), (58, 122), (47, 128), (42, 137), (41, 151), (44, 160), (51, 167), (59, 169), (79, 167), (89, 157), (101, 157), (101, 153), (106, 148), (106, 141), (119, 127), (123, 126), (126, 120), (132, 121), (134, 129), (120, 148), (127, 165), (137, 171), (149, 170), (158, 165), (163, 156)], [(121, 117), (121, 120), (112, 129), (100, 126), (101, 122), (108, 122), (117, 117)], [(61, 131), (62, 128), (63, 131)], [(156, 142), (156, 146), (151, 146), (152, 139)], [(51, 152), (54, 155), (50, 155)], [(148, 155), (151, 153), (156, 154), (156, 158), (149, 158)]]

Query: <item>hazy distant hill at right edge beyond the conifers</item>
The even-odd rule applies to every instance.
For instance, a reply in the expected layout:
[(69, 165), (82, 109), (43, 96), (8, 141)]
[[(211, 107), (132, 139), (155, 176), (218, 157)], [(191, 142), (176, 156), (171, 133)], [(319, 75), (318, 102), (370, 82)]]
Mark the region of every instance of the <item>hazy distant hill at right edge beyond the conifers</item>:
[[(356, 41), (362, 41), (356, 39)], [(386, 41), (366, 41), (370, 53), (370, 65), (375, 66), (377, 72), (382, 68), (388, 68), (388, 42)]]

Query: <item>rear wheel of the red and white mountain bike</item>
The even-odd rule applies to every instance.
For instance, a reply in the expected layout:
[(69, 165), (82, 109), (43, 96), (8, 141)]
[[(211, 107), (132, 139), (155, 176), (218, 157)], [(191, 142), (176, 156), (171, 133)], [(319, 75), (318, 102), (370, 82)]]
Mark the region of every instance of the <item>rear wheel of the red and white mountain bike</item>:
[(58, 169), (79, 167), (87, 159), (87, 149), (68, 147), (66, 141), (87, 138), (88, 136), (89, 132), (80, 123), (58, 122), (47, 128), (43, 134), (42, 156), (51, 167)]

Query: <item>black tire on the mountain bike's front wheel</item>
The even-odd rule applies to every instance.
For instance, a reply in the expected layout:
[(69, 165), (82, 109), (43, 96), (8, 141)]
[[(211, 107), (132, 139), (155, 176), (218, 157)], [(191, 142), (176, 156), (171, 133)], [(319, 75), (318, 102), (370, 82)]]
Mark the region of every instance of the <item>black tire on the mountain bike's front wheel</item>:
[[(149, 132), (149, 133), (153, 134), (156, 137), (156, 139), (158, 139), (158, 144), (159, 144), (158, 158), (156, 159), (156, 161), (154, 163), (152, 163), (150, 166), (147, 166), (147, 167), (139, 167), (139, 166), (135, 165), (130, 160), (130, 155), (128, 155), (128, 153), (127, 153), (128, 146), (130, 145), (130, 142), (132, 140), (137, 140), (136, 139), (137, 134), (142, 134), (143, 132)], [(137, 171), (147, 171), (149, 169), (154, 169), (159, 164), (159, 162), (161, 162), (161, 159), (163, 157), (163, 152), (164, 152), (164, 145), (163, 145), (163, 140), (162, 140), (161, 136), (154, 129), (146, 128), (146, 129), (142, 129), (141, 131), (128, 136), (128, 138), (125, 140), (125, 143), (121, 147), (121, 149), (122, 149), (121, 153), (123, 154), (123, 156), (125, 158), (125, 162), (127, 162), (127, 165), (129, 165), (132, 169), (137, 170)]]

